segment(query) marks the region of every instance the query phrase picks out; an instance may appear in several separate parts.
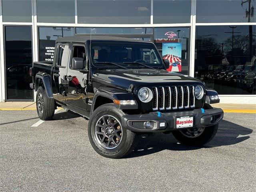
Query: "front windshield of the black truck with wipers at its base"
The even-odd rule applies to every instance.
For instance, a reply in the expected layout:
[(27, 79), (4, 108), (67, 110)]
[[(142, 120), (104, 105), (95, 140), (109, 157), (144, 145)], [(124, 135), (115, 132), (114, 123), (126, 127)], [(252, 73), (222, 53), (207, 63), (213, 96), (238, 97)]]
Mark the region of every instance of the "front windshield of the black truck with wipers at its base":
[[(99, 42), (91, 46), (92, 63), (102, 68), (162, 68), (153, 44)], [(118, 65), (116, 65), (118, 64)]]

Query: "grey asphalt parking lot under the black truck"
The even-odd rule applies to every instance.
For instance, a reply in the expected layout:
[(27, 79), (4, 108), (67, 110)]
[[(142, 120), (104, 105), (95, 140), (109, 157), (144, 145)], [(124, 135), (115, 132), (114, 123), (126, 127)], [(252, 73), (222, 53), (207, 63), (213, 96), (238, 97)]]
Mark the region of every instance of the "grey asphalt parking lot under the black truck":
[(38, 120), (0, 111), (0, 191), (256, 191), (256, 114), (226, 113), (203, 148), (156, 134), (123, 159), (98, 155), (75, 114)]

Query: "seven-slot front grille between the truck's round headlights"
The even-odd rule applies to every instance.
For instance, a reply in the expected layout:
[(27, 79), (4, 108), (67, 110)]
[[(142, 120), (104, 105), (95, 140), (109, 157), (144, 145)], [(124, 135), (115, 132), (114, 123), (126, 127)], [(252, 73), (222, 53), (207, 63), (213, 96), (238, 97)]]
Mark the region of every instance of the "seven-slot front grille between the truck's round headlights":
[(194, 86), (152, 87), (153, 110), (176, 110), (195, 107)]

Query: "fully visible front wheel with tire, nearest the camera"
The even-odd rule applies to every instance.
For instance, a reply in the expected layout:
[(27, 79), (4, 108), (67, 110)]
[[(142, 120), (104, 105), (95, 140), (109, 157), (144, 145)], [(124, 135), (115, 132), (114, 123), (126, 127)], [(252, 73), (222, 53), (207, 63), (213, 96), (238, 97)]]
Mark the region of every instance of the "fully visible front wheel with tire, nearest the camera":
[(92, 147), (101, 156), (122, 158), (130, 154), (136, 146), (138, 134), (122, 127), (123, 115), (125, 115), (124, 112), (114, 104), (104, 104), (98, 107), (90, 117), (88, 136)]

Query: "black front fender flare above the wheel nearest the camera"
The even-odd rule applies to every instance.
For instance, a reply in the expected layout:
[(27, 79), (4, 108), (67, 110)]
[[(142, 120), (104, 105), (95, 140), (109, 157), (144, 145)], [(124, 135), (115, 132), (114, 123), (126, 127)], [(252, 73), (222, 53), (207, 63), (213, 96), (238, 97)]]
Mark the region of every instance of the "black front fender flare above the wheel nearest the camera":
[(104, 98), (108, 98), (110, 100), (135, 100), (135, 105), (116, 105), (117, 108), (120, 109), (138, 109), (138, 103), (132, 93), (125, 92), (124, 90), (116, 89), (116, 88), (99, 88), (94, 94), (94, 98), (92, 100), (92, 108), (91, 114), (94, 110), (94, 106), (96, 104), (96, 100), (98, 96), (102, 96)]

